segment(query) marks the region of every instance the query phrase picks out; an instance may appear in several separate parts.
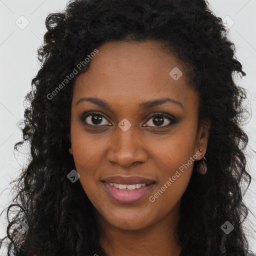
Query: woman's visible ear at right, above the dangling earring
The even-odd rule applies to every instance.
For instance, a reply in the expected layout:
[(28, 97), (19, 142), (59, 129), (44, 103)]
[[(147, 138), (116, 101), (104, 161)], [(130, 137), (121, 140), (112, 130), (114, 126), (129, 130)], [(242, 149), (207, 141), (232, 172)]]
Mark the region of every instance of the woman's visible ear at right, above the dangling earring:
[[(202, 155), (200, 155), (200, 159), (206, 153), (208, 137), (209, 137), (209, 129), (210, 129), (210, 120), (204, 119), (201, 122), (200, 127), (198, 129), (198, 133), (197, 133), (197, 137), (196, 137), (196, 141), (195, 141), (195, 148), (194, 148), (194, 150), (195, 150), (194, 154), (196, 154), (196, 152), (198, 153), (199, 148), (202, 149), (202, 151), (201, 151)], [(200, 159), (198, 159), (198, 160), (200, 160)]]

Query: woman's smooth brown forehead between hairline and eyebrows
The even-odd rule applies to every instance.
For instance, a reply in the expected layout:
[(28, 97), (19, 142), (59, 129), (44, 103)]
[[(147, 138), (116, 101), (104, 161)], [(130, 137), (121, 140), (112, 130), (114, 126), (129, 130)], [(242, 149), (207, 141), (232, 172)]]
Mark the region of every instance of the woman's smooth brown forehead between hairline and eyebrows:
[(89, 68), (77, 77), (72, 104), (83, 96), (96, 96), (117, 105), (163, 96), (182, 104), (197, 101), (182, 62), (165, 52), (161, 43), (150, 40), (101, 45)]

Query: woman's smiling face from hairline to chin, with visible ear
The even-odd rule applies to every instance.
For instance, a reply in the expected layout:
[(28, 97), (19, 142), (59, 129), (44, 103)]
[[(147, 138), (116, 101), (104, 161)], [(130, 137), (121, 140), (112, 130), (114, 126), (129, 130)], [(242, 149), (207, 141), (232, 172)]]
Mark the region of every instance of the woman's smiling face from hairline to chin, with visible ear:
[[(185, 78), (182, 63), (150, 40), (103, 44), (77, 77), (69, 152), (85, 193), (113, 226), (140, 229), (178, 214), (191, 159), (207, 145), (207, 130), (196, 134), (198, 95)], [(108, 179), (115, 175), (150, 184)]]

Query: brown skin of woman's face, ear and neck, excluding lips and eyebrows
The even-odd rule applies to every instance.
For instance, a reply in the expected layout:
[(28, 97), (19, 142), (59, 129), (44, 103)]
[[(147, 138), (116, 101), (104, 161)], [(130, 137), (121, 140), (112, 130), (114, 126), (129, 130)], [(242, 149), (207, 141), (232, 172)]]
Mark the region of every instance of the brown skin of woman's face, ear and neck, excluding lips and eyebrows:
[[(178, 67), (183, 75), (174, 80), (169, 72)], [(82, 97), (98, 97), (111, 109)], [(179, 101), (142, 109), (143, 101), (169, 97)], [(100, 124), (84, 112), (98, 111)], [(159, 126), (151, 113), (165, 112)], [(126, 118), (127, 131), (118, 123)], [(182, 62), (163, 51), (160, 42), (107, 42), (98, 48), (88, 70), (77, 77), (71, 103), (71, 147), (79, 181), (96, 209), (100, 242), (108, 256), (177, 256), (180, 246), (173, 236), (179, 203), (189, 182), (193, 162), (165, 191), (149, 201), (178, 168), (202, 148), (206, 152), (209, 123), (196, 134), (198, 94), (185, 75)], [(94, 126), (85, 126), (85, 121)], [(110, 126), (107, 126), (110, 124)], [(99, 126), (101, 125), (101, 127)], [(102, 127), (105, 125), (104, 127)], [(101, 180), (110, 175), (140, 175), (156, 181), (150, 194), (133, 203), (119, 203), (105, 192)]]

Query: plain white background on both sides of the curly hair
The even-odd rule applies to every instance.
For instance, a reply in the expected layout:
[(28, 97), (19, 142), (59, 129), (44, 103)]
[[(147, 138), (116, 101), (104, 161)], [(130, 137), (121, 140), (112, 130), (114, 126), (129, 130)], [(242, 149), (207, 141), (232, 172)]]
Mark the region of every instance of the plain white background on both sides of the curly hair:
[[(11, 198), (9, 181), (19, 174), (25, 162), (23, 154), (13, 152), (20, 141), (21, 131), (17, 123), (23, 118), (24, 96), (30, 90), (31, 79), (39, 70), (36, 49), (43, 41), (46, 31), (45, 18), (48, 13), (62, 10), (66, 0), (0, 0), (0, 211)], [(231, 41), (236, 46), (236, 57), (242, 63), (246, 76), (235, 78), (235, 82), (248, 91), (248, 108), (251, 119), (244, 125), (249, 136), (247, 147), (248, 169), (252, 182), (245, 195), (245, 203), (256, 215), (256, 159), (251, 149), (256, 150), (256, 0), (209, 0), (210, 8), (225, 20)], [(24, 16), (24, 17), (20, 17)], [(28, 20), (28, 21), (26, 21)], [(21, 29), (19, 26), (29, 24)], [(256, 219), (249, 214), (256, 228)], [(6, 232), (6, 211), (0, 218), (0, 238)], [(256, 253), (256, 234), (248, 233), (249, 245)]]

